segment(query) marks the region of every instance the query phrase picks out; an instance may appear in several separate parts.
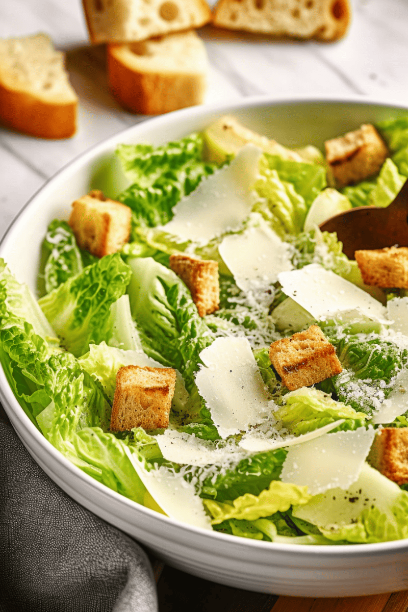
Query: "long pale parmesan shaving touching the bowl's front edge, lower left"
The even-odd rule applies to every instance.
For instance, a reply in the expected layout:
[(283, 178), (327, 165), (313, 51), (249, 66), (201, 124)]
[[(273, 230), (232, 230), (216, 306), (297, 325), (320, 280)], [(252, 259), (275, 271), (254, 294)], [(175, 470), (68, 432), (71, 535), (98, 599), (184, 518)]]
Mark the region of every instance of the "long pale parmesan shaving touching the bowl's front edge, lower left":
[(184, 480), (181, 474), (172, 472), (163, 466), (147, 471), (143, 462), (138, 461), (138, 457), (133, 455), (127, 447), (125, 447), (125, 452), (147, 491), (169, 517), (195, 527), (212, 529), (210, 518), (207, 517), (202, 501), (196, 494), (192, 483)]

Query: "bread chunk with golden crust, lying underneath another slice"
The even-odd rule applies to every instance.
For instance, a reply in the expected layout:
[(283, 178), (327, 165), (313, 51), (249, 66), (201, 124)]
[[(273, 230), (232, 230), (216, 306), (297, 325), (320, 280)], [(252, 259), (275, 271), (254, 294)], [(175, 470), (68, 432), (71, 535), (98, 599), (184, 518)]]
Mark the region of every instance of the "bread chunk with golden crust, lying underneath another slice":
[(108, 46), (109, 86), (134, 113), (161, 114), (201, 104), (207, 54), (195, 32)]

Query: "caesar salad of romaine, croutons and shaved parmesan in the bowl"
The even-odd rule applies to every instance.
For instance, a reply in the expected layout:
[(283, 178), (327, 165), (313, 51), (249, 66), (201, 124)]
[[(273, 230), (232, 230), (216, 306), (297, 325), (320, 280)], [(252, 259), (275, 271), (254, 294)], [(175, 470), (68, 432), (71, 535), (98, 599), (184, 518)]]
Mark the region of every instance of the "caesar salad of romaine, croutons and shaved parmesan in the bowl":
[(307, 545), (408, 537), (407, 286), (366, 285), (319, 230), (395, 198), (408, 116), (325, 154), (223, 117), (116, 155), (129, 186), (48, 226), (38, 300), (1, 261), (0, 361), (35, 427), (190, 525)]

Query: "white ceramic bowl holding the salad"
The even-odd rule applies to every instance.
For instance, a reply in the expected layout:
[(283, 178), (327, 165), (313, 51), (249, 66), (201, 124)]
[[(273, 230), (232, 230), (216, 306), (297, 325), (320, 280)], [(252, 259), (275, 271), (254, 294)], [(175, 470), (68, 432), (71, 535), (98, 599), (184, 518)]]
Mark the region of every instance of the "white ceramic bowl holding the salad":
[[(111, 172), (116, 173), (113, 189), (119, 192), (125, 186), (112, 162), (119, 143), (165, 143), (203, 129), (221, 114), (233, 113), (243, 124), (288, 146), (322, 147), (327, 138), (364, 122), (407, 112), (408, 108), (361, 97), (258, 98), (150, 119), (93, 147), (48, 181), (10, 226), (2, 239), (0, 256), (18, 280), (35, 290), (40, 245), (48, 223), (56, 217), (67, 218), (72, 201), (91, 187), (104, 188)], [(111, 491), (72, 465), (24, 414), (2, 370), (0, 399), (23, 444), (57, 485), (174, 567), (251, 591), (303, 597), (368, 595), (408, 588), (407, 540), (311, 547), (231, 537), (179, 523)]]

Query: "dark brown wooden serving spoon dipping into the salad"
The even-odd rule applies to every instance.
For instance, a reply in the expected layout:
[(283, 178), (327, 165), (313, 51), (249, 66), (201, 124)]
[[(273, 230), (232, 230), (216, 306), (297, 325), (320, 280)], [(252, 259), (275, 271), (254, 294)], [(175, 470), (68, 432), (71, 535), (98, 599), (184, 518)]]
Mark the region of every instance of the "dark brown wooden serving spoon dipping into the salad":
[(387, 207), (358, 206), (330, 217), (319, 228), (336, 232), (349, 259), (360, 248), (408, 247), (408, 179)]

